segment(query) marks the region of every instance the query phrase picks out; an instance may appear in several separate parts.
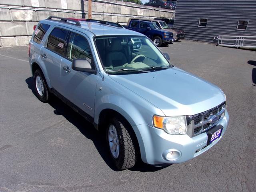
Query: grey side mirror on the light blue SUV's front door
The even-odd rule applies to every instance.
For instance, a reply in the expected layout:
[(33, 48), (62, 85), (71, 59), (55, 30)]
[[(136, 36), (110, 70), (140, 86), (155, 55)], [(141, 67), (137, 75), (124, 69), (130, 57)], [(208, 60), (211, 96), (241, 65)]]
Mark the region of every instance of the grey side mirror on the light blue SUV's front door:
[(72, 61), (72, 69), (75, 71), (83, 71), (89, 73), (95, 72), (94, 66), (92, 66), (92, 62), (90, 63), (86, 59), (74, 59)]

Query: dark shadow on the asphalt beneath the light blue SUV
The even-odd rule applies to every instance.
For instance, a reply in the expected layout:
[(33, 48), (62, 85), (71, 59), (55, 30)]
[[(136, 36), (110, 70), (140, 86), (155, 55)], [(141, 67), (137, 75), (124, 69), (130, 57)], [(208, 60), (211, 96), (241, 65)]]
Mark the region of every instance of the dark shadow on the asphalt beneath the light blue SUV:
[[(35, 90), (34, 90), (34, 81), (33, 78), (27, 78), (26, 83), (28, 84), (28, 88), (32, 90), (32, 93), (34, 96)], [(82, 116), (78, 115), (77, 112), (72, 110), (68, 105), (64, 104), (59, 98), (53, 96), (52, 100), (48, 103), (52, 108), (54, 108), (54, 114), (56, 115), (62, 115), (66, 120), (68, 120), (70, 123), (72, 123), (86, 138), (92, 140), (94, 143), (96, 149), (98, 150), (98, 153), (102, 157), (102, 159), (106, 162), (106, 164), (114, 171), (118, 171), (114, 164), (112, 163), (112, 160), (110, 158), (110, 154), (108, 153), (108, 144), (106, 144), (105, 136), (98, 130), (94, 128), (94, 126), (85, 120)], [(155, 167), (149, 164), (145, 164), (138, 159), (137, 164), (130, 168), (131, 171), (140, 171), (140, 172), (154, 172), (161, 170), (164, 167)]]

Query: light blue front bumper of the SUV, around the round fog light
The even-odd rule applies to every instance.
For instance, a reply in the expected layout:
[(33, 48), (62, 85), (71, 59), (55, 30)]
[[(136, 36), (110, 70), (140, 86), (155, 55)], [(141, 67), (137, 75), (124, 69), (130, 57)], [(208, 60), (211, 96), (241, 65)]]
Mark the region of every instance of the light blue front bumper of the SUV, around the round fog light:
[[(170, 135), (164, 130), (154, 128), (147, 124), (133, 126), (136, 133), (142, 161), (148, 164), (173, 164), (188, 161), (214, 146), (223, 136), (228, 127), (229, 115), (226, 111), (225, 117), (217, 124), (222, 125), (223, 130), (220, 138), (206, 146), (208, 136), (202, 133), (190, 138), (188, 135)], [(178, 150), (181, 155), (177, 160), (168, 161), (164, 154), (170, 150)]]

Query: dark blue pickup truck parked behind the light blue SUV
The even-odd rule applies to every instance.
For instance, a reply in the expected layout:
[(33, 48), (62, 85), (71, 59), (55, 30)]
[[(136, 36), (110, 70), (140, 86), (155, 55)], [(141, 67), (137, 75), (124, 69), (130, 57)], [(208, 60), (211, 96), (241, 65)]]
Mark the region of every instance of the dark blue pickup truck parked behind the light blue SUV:
[(124, 26), (124, 28), (146, 35), (158, 47), (162, 44), (170, 44), (175, 41), (172, 32), (162, 30), (152, 22), (130, 20), (129, 24)]

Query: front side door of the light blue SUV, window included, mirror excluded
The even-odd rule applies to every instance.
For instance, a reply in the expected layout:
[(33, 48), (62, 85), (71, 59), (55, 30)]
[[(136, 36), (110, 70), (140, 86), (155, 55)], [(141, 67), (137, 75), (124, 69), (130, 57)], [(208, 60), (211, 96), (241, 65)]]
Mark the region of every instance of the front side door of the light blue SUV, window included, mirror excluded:
[(93, 117), (99, 74), (73, 70), (72, 60), (74, 59), (84, 59), (95, 64), (90, 39), (85, 34), (72, 30), (67, 44), (66, 57), (61, 61), (62, 86), (59, 91), (65, 98)]

